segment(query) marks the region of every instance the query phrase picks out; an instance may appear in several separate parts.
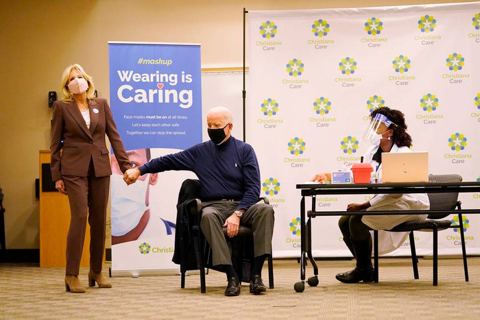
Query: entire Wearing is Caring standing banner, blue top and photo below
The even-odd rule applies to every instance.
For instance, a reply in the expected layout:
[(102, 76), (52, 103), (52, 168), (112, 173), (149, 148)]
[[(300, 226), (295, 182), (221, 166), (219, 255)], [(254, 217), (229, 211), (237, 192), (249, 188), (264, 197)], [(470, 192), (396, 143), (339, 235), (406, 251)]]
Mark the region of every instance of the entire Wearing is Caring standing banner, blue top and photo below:
[[(200, 45), (109, 42), (108, 51), (111, 109), (133, 167), (202, 141)], [(112, 275), (178, 273), (176, 199), (194, 176), (145, 174), (127, 186), (113, 150), (111, 165)]]

